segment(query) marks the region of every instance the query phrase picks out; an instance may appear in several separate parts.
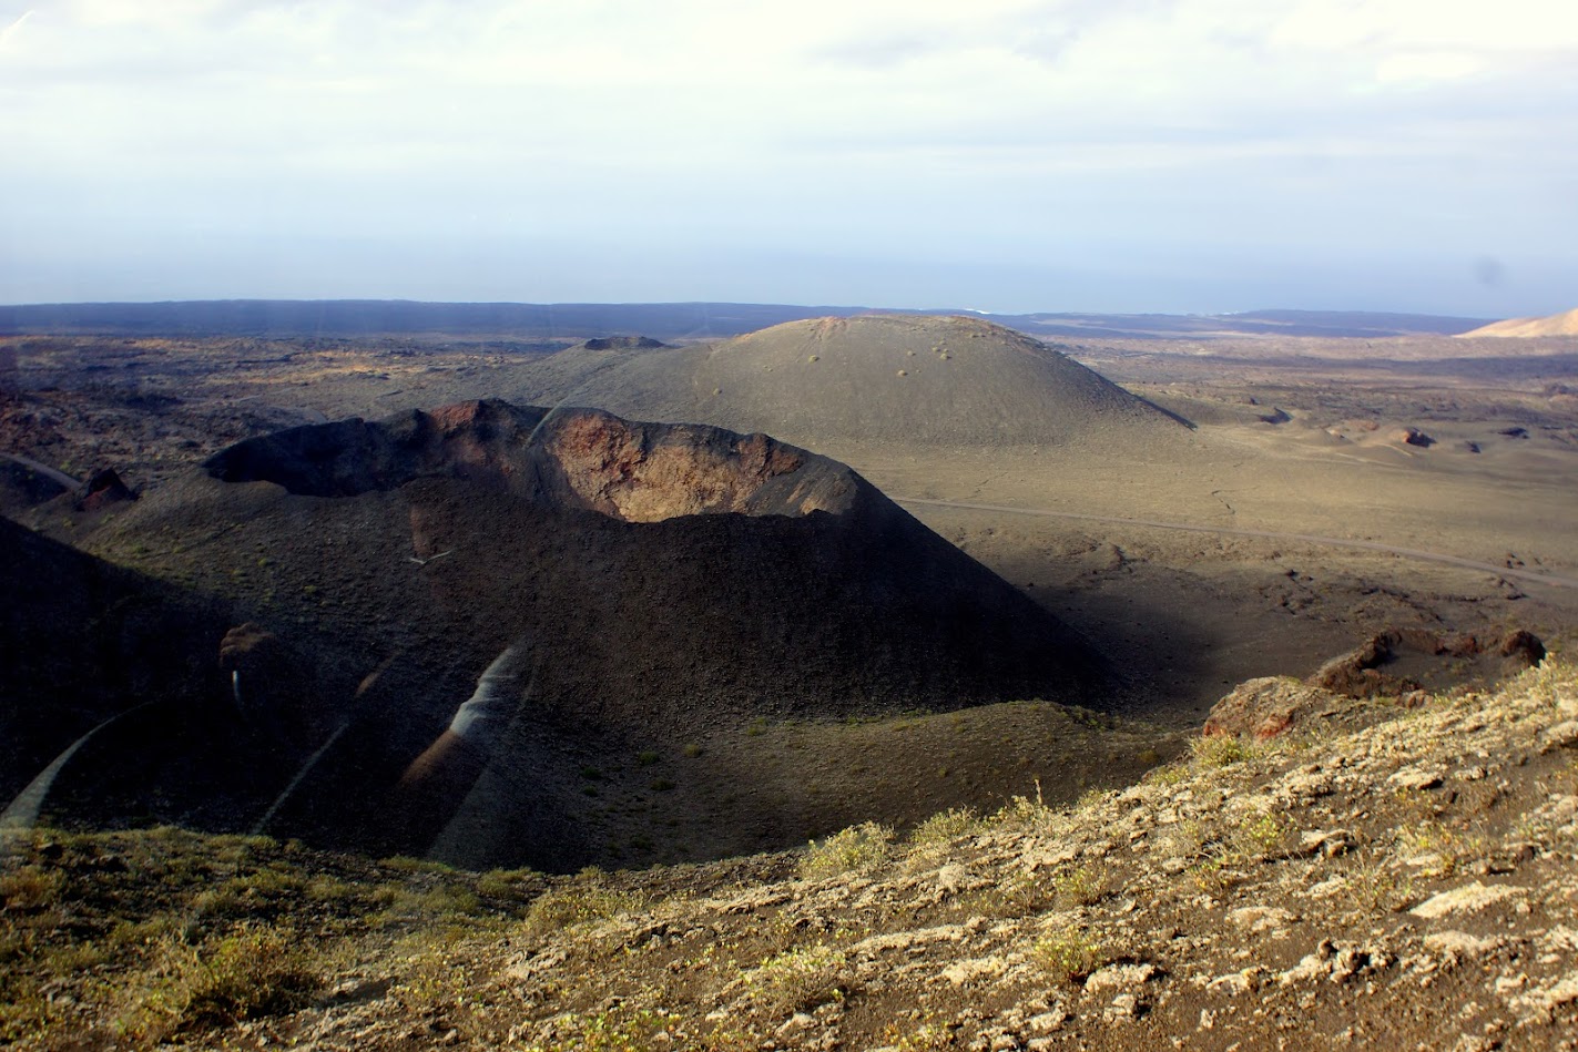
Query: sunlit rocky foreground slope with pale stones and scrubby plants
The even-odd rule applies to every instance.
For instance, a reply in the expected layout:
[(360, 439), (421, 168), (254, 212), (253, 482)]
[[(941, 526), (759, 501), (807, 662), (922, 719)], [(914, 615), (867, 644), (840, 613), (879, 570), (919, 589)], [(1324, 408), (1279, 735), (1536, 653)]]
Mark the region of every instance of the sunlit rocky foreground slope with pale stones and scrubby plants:
[(1021, 800), (903, 841), (860, 826), (639, 874), (548, 882), (267, 841), (39, 833), (0, 885), (0, 1033), (24, 1047), (1575, 1047), (1578, 670), (1550, 658), (1494, 694), (1415, 702), (1352, 702), (1267, 743), (1201, 738), (1067, 809)]

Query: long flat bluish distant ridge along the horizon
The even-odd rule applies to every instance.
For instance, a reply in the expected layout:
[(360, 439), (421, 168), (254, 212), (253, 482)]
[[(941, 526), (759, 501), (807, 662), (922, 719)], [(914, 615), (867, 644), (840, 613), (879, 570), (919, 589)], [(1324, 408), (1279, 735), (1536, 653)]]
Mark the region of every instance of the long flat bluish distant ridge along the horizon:
[(988, 314), (783, 303), (421, 303), (412, 300), (191, 300), (0, 306), (0, 336), (503, 336), (574, 342), (589, 336), (726, 339), (770, 325), (858, 314), (969, 314), (1030, 336), (1206, 339), (1456, 334), (1488, 319), (1362, 311), (1245, 314)]

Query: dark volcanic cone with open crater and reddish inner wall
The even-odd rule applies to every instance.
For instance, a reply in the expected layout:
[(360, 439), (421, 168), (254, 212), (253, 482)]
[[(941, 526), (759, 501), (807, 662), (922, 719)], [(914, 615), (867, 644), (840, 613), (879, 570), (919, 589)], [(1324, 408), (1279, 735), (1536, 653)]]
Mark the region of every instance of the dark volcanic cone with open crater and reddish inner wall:
[(249, 621), (218, 702), (279, 743), (248, 770), (290, 782), (264, 828), (385, 853), (606, 861), (608, 808), (658, 822), (667, 800), (639, 765), (617, 787), (631, 755), (1112, 686), (843, 464), (601, 410), (486, 401), (248, 440), (95, 544)]

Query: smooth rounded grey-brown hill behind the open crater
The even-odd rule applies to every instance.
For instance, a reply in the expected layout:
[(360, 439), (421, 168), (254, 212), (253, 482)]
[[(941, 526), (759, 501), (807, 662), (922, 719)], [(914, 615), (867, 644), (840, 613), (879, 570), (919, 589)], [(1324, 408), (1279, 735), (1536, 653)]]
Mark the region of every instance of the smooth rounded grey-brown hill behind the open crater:
[(767, 431), (810, 448), (1165, 442), (1185, 431), (1046, 344), (970, 317), (830, 317), (693, 347), (571, 349), (533, 375), (533, 401)]

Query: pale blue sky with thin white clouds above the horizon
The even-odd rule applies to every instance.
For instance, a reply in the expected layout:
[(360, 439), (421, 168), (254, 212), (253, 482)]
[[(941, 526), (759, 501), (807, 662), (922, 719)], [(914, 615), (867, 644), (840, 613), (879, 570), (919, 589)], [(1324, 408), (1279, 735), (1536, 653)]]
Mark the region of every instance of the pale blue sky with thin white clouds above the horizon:
[(1570, 0), (0, 0), (0, 303), (1578, 306)]

